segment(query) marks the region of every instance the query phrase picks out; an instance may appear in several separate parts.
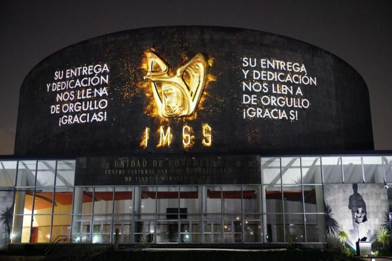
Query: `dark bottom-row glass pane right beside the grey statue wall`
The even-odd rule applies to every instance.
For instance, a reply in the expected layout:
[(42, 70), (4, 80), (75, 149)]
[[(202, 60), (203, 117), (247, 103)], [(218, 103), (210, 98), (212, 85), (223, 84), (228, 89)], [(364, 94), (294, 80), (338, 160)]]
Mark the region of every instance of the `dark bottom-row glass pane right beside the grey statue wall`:
[(327, 242), (325, 234), (324, 214), (305, 215), (306, 241), (307, 242)]

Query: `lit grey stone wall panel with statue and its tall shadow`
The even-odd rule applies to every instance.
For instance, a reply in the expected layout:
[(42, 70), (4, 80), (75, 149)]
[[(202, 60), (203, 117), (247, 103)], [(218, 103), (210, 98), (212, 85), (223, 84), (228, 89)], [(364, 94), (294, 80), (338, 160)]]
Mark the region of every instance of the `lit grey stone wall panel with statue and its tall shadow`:
[(376, 242), (377, 231), (389, 227), (388, 199), (383, 184), (324, 185), (328, 237), (341, 230), (349, 234), (348, 245), (358, 239)]

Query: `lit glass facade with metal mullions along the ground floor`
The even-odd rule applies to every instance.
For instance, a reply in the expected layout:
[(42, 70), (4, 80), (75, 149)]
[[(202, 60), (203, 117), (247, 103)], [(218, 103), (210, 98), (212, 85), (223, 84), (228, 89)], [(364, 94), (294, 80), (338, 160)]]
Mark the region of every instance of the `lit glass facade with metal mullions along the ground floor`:
[(326, 243), (323, 184), (392, 184), (392, 156), (262, 157), (261, 184), (74, 186), (75, 160), (0, 161), (12, 243)]

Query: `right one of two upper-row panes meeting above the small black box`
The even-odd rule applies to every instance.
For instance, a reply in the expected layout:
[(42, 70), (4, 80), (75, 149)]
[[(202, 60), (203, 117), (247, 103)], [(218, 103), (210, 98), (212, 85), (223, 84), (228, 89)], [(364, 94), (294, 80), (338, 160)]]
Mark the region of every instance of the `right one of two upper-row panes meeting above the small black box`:
[(186, 208), (187, 213), (201, 213), (202, 211), (202, 187), (180, 187), (180, 209)]

